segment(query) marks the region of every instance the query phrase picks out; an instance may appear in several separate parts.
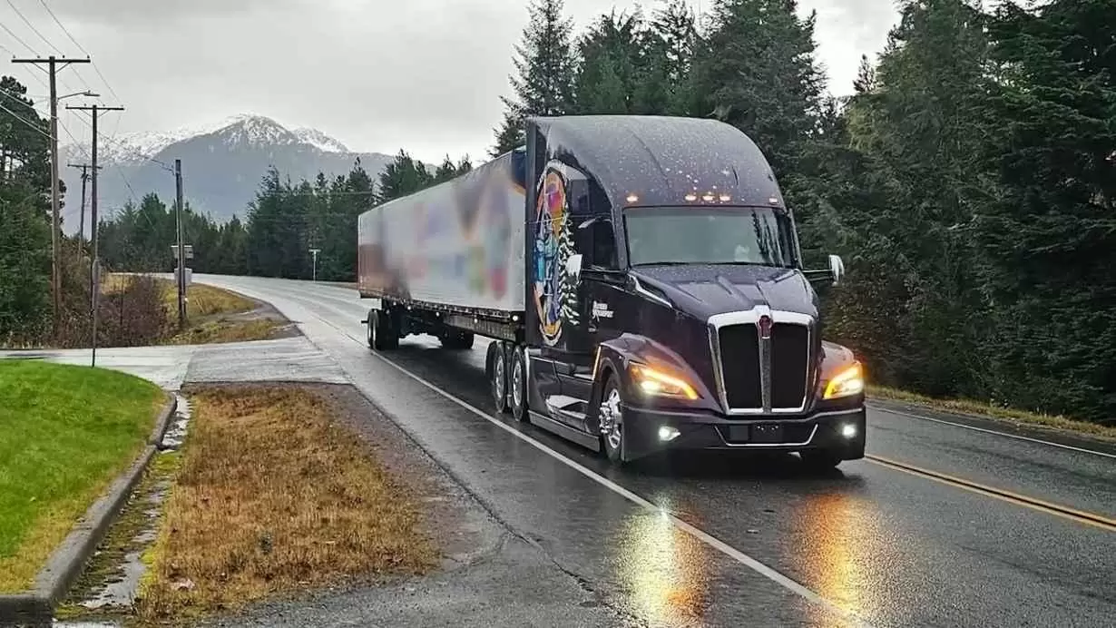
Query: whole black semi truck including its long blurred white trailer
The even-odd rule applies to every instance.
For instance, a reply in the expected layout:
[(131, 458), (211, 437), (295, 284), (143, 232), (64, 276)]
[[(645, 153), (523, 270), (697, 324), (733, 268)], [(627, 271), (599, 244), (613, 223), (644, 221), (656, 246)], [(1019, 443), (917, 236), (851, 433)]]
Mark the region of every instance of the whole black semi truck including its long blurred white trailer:
[(359, 218), (368, 345), (488, 345), (496, 408), (624, 463), (666, 450), (864, 456), (864, 373), (821, 339), (791, 210), (720, 122), (527, 120), (527, 145)]

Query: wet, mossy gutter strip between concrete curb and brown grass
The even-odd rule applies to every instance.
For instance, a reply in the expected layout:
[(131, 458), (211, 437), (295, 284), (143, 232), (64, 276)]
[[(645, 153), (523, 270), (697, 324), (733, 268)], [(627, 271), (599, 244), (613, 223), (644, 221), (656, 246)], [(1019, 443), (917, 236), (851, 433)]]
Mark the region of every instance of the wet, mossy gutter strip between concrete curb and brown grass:
[[(67, 600), (71, 616), (58, 619), (55, 626), (65, 628), (106, 628), (121, 624), (105, 620), (100, 616), (127, 615), (140, 591), (140, 582), (147, 567), (143, 554), (155, 541), (162, 504), (171, 489), (167, 462), (186, 436), (190, 424), (190, 403), (176, 395), (179, 407), (171, 418), (166, 434), (158, 443), (158, 452), (152, 460), (147, 475), (136, 487), (132, 499), (113, 523), (105, 540), (97, 548), (86, 566), (77, 586)], [(89, 615), (83, 619), (83, 616)], [(96, 620), (93, 620), (96, 617)]]

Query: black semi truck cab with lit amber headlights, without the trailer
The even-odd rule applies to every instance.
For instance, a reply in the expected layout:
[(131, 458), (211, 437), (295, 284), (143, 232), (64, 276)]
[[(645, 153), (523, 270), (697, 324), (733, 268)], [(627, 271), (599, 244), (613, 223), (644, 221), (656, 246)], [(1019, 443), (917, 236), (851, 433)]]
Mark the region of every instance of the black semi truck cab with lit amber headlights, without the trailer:
[[(723, 123), (528, 120), (522, 342), (493, 342), (500, 410), (625, 463), (665, 450), (864, 456), (864, 373), (825, 342), (795, 219)], [(507, 378), (504, 380), (503, 378)]]

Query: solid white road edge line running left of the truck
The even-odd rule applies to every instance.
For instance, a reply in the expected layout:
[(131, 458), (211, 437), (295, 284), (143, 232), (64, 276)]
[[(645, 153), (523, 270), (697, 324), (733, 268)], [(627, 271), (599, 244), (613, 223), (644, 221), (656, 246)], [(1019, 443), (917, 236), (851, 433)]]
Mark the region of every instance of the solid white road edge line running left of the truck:
[[(348, 335), (346, 334), (346, 336), (348, 336)], [(349, 338), (352, 338), (352, 336), (349, 336)], [(845, 609), (840, 608), (839, 606), (837, 606), (833, 601), (830, 601), (830, 600), (821, 597), (820, 595), (811, 591), (810, 589), (806, 588), (804, 584), (797, 582), (796, 580), (792, 580), (791, 578), (788, 578), (787, 576), (783, 576), (779, 571), (776, 571), (775, 569), (768, 567), (767, 564), (763, 564), (762, 562), (753, 559), (752, 557), (745, 554), (744, 552), (741, 552), (740, 550), (733, 548), (732, 545), (725, 543), (724, 541), (718, 539), (716, 537), (713, 537), (712, 534), (710, 534), (708, 532), (704, 532), (704, 531), (702, 531), (702, 530), (700, 530), (698, 528), (694, 528), (693, 525), (686, 523), (685, 521), (682, 521), (681, 519), (679, 519), (674, 514), (667, 512), (666, 510), (664, 510), (664, 509), (662, 509), (660, 506), (656, 506), (654, 503), (652, 503), (652, 502), (650, 502), (650, 501), (641, 497), (639, 495), (633, 493), (632, 491), (628, 491), (627, 489), (625, 489), (624, 486), (620, 486), (619, 484), (613, 482), (612, 480), (608, 480), (607, 477), (598, 475), (597, 473), (594, 473), (588, 467), (583, 466), (581, 464), (579, 464), (579, 463), (577, 463), (575, 461), (569, 460), (568, 457), (566, 457), (566, 456), (559, 454), (558, 452), (551, 450), (550, 447), (548, 447), (543, 443), (540, 443), (539, 441), (536, 441), (531, 436), (529, 436), (527, 434), (523, 434), (522, 432), (519, 432), (518, 429), (514, 429), (513, 427), (504, 424), (503, 422), (501, 422), (501, 421), (492, 417), (491, 415), (484, 413), (483, 410), (474, 407), (469, 402), (465, 402), (464, 399), (461, 399), (461, 398), (456, 397), (455, 395), (453, 395), (451, 393), (446, 393), (445, 390), (442, 390), (441, 388), (439, 388), (434, 384), (431, 384), (430, 381), (426, 381), (422, 377), (419, 377), (417, 375), (411, 373), (410, 370), (403, 368), (402, 366), (395, 364), (391, 359), (385, 358), (384, 356), (382, 356), (379, 354), (372, 352), (372, 355), (374, 355), (375, 357), (379, 358), (384, 364), (391, 366), (392, 368), (398, 370), (403, 375), (406, 375), (407, 377), (414, 379), (415, 381), (422, 384), (423, 386), (425, 386), (425, 387), (430, 388), (431, 390), (437, 393), (439, 395), (445, 397), (446, 399), (450, 399), (451, 402), (453, 402), (453, 403), (458, 404), (459, 406), (465, 408), (466, 410), (471, 412), (472, 414), (474, 414), (474, 415), (477, 415), (477, 416), (479, 416), (479, 417), (488, 421), (489, 423), (496, 425), (497, 427), (500, 427), (501, 429), (503, 429), (504, 432), (508, 432), (512, 436), (516, 436), (517, 438), (526, 441), (527, 443), (529, 443), (533, 447), (538, 448), (542, 453), (549, 455), (550, 457), (557, 460), (558, 462), (565, 464), (566, 466), (573, 468), (574, 471), (577, 471), (578, 473), (580, 473), (581, 475), (585, 475), (589, 480), (593, 480), (594, 482), (600, 484), (602, 486), (604, 486), (604, 487), (613, 491), (614, 493), (617, 493), (617, 494), (626, 497), (628, 501), (634, 502), (634, 503), (643, 506), (644, 509), (646, 509), (646, 510), (648, 510), (651, 512), (655, 512), (655, 513), (660, 513), (660, 514), (666, 515), (670, 519), (671, 523), (674, 524), (675, 528), (679, 528), (680, 530), (683, 530), (683, 531), (687, 532), (690, 535), (694, 537), (695, 539), (698, 539), (698, 540), (702, 541), (703, 543), (710, 545), (711, 548), (720, 551), (721, 553), (728, 555), (729, 558), (735, 560), (737, 562), (739, 562), (739, 563), (748, 567), (752, 571), (756, 571), (757, 573), (759, 573), (760, 576), (763, 576), (764, 578), (767, 578), (767, 579), (769, 579), (769, 580), (778, 583), (779, 586), (783, 587), (785, 589), (788, 589), (788, 590), (790, 590), (790, 591), (792, 591), (792, 592), (801, 596), (802, 598), (806, 598), (807, 600), (809, 600), (809, 601), (811, 601), (811, 602), (814, 602), (816, 605), (822, 606), (822, 607), (825, 607), (825, 608), (827, 608), (827, 609), (829, 609), (829, 610), (831, 610), (831, 611), (840, 615), (843, 618), (845, 618), (845, 619), (847, 619), (849, 621), (853, 621), (857, 626), (870, 626), (869, 624), (866, 624), (864, 621), (864, 619), (862, 619), (855, 612), (852, 612), (852, 611), (848, 611), (848, 610), (845, 610)]]

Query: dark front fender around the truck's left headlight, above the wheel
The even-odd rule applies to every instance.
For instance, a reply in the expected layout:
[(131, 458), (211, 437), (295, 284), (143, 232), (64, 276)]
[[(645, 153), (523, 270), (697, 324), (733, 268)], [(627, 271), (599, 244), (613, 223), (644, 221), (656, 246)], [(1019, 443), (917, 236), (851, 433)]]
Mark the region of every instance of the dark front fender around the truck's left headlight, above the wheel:
[(720, 410), (716, 395), (709, 388), (709, 383), (703, 381), (677, 352), (662, 342), (638, 334), (624, 334), (617, 338), (600, 342), (597, 346), (597, 357), (593, 367), (593, 388), (588, 399), (588, 407), (595, 408), (600, 403), (605, 381), (609, 375), (618, 377), (620, 392), (627, 404), (643, 398), (642, 392), (632, 386), (631, 377), (627, 375), (628, 366), (633, 363), (643, 364), (670, 373), (675, 377), (681, 377), (698, 393), (698, 398), (694, 400), (668, 397), (656, 398), (656, 407), (666, 409)]

